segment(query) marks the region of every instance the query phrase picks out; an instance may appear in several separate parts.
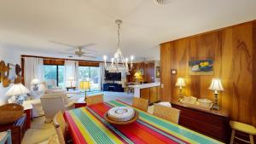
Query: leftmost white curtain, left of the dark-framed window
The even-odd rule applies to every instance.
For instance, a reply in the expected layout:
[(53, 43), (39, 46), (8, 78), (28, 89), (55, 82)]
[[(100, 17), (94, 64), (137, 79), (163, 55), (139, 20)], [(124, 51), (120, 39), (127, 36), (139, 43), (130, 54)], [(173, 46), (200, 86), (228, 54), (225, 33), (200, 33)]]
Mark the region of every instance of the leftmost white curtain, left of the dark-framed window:
[[(44, 60), (42, 58), (25, 57), (24, 58), (24, 80), (25, 86), (32, 89), (32, 79), (37, 78), (44, 82)], [(39, 90), (43, 89), (43, 84), (38, 85)]]

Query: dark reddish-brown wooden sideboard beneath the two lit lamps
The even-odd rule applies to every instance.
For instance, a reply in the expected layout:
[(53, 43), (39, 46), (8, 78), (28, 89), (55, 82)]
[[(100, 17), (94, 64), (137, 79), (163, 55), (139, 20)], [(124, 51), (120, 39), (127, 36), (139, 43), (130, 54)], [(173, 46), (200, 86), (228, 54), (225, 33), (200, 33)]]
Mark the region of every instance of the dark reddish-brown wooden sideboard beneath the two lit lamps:
[(172, 103), (172, 107), (181, 110), (179, 124), (195, 130), (203, 135), (208, 135), (218, 141), (229, 143), (230, 125), (226, 116), (202, 112), (189, 107), (183, 107)]

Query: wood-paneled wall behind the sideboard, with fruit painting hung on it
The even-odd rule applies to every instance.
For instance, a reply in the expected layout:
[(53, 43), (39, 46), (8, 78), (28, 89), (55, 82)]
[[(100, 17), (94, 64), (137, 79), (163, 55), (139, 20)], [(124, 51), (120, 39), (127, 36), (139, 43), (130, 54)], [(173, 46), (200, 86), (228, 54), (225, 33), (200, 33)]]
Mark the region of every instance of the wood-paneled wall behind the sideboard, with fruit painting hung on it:
[[(181, 77), (187, 84), (184, 95), (213, 101), (208, 87), (212, 78), (221, 78), (225, 90), (219, 95), (220, 105), (230, 111), (230, 118), (256, 126), (255, 38), (254, 20), (160, 44), (161, 84), (164, 84), (161, 100), (177, 100), (175, 84)], [(204, 59), (214, 60), (214, 74), (189, 75), (189, 60)], [(177, 69), (177, 75), (172, 75), (171, 69)]]

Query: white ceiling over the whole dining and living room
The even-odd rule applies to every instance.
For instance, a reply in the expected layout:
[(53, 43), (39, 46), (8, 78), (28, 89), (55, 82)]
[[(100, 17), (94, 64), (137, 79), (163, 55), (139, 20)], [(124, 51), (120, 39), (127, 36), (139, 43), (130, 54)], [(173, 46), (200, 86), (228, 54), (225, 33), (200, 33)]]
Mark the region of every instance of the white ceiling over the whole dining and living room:
[(56, 57), (70, 48), (49, 41), (96, 43), (102, 60), (116, 50), (116, 19), (125, 55), (160, 59), (159, 43), (255, 20), (256, 0), (1, 0), (0, 43)]

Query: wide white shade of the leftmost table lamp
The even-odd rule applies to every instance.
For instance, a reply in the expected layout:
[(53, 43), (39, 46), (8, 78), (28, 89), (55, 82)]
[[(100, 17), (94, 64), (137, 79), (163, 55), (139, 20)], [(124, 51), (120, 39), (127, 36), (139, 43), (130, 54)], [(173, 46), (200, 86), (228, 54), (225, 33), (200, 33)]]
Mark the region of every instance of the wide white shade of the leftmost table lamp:
[(12, 96), (12, 95), (24, 95), (29, 93), (29, 89), (26, 89), (26, 87), (23, 84), (14, 84), (11, 86), (11, 88), (5, 93), (5, 95)]

